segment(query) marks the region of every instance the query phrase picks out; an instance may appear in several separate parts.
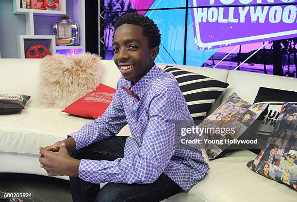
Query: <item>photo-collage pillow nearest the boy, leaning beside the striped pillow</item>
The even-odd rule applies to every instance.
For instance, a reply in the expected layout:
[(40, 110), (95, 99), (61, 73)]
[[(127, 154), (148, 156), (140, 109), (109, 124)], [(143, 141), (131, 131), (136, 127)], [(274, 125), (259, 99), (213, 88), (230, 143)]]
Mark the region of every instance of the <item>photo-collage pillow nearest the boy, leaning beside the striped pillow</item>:
[[(206, 149), (209, 159), (214, 159), (227, 147), (244, 148), (241, 144), (256, 144), (257, 141), (245, 133), (247, 128), (262, 114), (268, 104), (251, 104), (232, 93), (211, 115), (198, 126), (206, 132), (201, 133), (202, 148)], [(239, 142), (238, 142), (239, 141)], [(238, 145), (230, 147), (231, 144)]]

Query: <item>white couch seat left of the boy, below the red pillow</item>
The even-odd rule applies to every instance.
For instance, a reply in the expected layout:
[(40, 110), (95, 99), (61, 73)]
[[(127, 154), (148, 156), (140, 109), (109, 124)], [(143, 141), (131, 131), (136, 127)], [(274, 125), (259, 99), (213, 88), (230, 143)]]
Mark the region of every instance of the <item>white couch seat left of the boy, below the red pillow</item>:
[[(20, 114), (0, 115), (0, 151), (38, 154), (40, 146), (63, 140), (93, 120), (61, 110), (25, 107)], [(117, 135), (131, 136), (128, 125)]]

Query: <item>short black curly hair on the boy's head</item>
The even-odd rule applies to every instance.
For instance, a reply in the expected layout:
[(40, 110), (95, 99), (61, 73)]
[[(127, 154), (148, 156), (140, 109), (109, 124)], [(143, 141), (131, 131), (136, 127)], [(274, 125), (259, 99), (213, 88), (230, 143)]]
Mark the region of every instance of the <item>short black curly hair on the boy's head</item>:
[(127, 13), (120, 16), (115, 21), (115, 30), (124, 24), (138, 25), (142, 27), (142, 35), (148, 39), (148, 48), (154, 48), (160, 45), (161, 34), (158, 26), (149, 19), (147, 16), (143, 16), (137, 13)]

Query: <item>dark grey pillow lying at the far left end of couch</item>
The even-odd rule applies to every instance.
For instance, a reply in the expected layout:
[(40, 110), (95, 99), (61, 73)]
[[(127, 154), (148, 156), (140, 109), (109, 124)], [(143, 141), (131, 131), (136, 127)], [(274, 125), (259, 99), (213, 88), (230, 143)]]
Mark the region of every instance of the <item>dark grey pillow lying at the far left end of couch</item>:
[(21, 112), (30, 98), (28, 95), (0, 94), (0, 115)]

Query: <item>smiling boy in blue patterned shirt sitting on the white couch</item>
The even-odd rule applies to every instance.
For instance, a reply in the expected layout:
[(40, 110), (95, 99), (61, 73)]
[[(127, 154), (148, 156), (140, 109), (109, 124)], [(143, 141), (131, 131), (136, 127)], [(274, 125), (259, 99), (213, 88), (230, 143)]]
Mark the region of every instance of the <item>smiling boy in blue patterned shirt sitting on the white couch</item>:
[[(148, 17), (121, 16), (113, 50), (122, 76), (112, 103), (66, 140), (40, 148), (49, 176), (70, 176), (74, 202), (159, 202), (189, 190), (209, 170), (198, 147), (177, 144), (176, 123), (193, 119), (173, 75), (154, 63), (160, 40)], [(132, 137), (115, 136), (126, 124)]]

